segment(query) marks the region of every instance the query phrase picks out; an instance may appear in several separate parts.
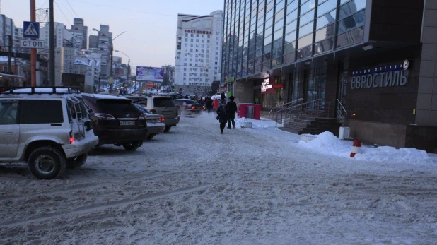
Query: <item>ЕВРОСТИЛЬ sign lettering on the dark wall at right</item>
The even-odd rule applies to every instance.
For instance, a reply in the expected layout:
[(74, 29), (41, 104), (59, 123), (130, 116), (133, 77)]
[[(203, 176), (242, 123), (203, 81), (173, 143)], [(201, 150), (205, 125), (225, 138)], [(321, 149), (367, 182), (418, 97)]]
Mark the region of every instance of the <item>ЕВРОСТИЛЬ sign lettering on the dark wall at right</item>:
[(351, 89), (404, 86), (408, 82), (409, 61), (352, 72)]

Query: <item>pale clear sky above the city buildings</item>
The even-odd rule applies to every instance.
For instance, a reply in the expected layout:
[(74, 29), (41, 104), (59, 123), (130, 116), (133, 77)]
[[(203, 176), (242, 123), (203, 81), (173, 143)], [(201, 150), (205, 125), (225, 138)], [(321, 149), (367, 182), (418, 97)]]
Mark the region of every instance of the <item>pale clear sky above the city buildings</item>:
[[(36, 0), (36, 6), (49, 8), (49, 1)], [(126, 31), (114, 41), (114, 49), (127, 54), (133, 68), (161, 67), (175, 65), (177, 13), (203, 16), (216, 10), (223, 10), (223, 0), (55, 0), (54, 21), (71, 28), (74, 18), (83, 18), (88, 36), (100, 24), (109, 25), (113, 37)], [(30, 1), (1, 1), (1, 14), (23, 28), (23, 21), (30, 20)], [(120, 52), (114, 56), (127, 63)]]

